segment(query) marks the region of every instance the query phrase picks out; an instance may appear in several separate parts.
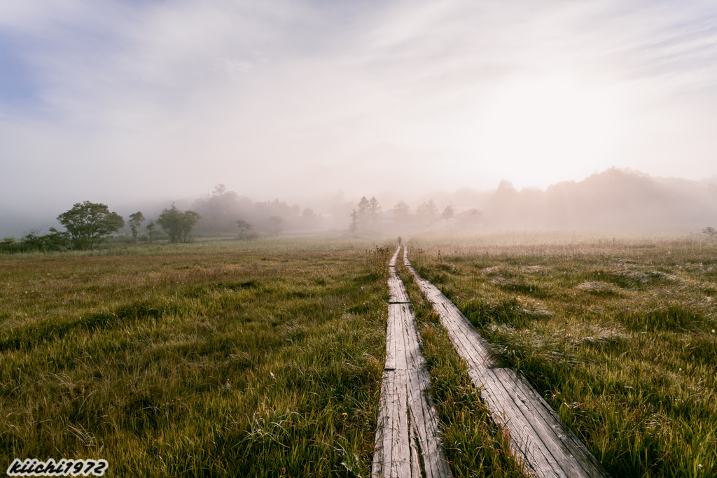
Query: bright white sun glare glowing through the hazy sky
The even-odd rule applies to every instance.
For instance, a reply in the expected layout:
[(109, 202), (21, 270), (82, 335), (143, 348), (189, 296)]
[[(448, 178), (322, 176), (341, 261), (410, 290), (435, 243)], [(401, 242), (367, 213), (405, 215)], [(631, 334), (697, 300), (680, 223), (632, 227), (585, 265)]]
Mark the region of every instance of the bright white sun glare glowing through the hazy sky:
[(485, 160), (516, 168), (516, 183), (544, 186), (556, 170), (574, 176), (609, 155), (625, 132), (619, 110), (614, 95), (566, 75), (519, 78), (490, 92), (470, 143)]

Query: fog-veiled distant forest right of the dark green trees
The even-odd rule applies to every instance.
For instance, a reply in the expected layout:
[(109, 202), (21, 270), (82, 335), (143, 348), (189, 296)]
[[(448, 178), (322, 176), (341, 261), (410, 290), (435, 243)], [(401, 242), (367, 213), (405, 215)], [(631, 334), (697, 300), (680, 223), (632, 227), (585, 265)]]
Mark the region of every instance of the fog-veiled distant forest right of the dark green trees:
[[(545, 190), (516, 189), (501, 181), (494, 191), (464, 189), (428, 193), (419, 201), (400, 196), (366, 196), (359, 201), (333, 201), (320, 212), (289, 206), (283, 201), (253, 202), (219, 185), (212, 195), (194, 202), (201, 214), (197, 231), (232, 233), (237, 219), (264, 234), (271, 218), (282, 219), (282, 230), (337, 231), (361, 234), (374, 230), (488, 228), (601, 228), (714, 226), (717, 224), (717, 184), (680, 178), (653, 178), (639, 171), (609, 168), (582, 181), (564, 181)], [(389, 204), (379, 200), (388, 196)], [(391, 198), (398, 198), (398, 200)], [(435, 198), (435, 199), (434, 199)]]

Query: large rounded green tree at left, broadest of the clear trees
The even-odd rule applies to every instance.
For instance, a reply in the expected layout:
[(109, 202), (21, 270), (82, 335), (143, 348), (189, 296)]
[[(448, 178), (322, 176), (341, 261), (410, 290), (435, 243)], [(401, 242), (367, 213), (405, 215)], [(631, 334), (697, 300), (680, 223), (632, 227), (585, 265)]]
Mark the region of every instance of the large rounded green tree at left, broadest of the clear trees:
[(72, 249), (92, 249), (102, 239), (125, 226), (122, 216), (110, 211), (106, 204), (85, 201), (57, 216), (70, 234)]

